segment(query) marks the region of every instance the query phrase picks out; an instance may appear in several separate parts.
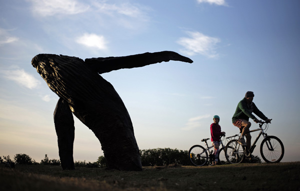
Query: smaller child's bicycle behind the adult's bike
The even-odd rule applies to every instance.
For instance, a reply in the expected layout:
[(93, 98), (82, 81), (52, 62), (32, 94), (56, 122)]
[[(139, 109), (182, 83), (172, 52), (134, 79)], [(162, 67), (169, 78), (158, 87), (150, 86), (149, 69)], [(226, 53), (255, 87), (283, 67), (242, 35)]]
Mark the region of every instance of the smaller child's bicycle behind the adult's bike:
[[(224, 137), (224, 135), (221, 136), (221, 138)], [(225, 152), (224, 152), (224, 145), (223, 145), (223, 140), (220, 138), (220, 152), (218, 156), (218, 164), (219, 165), (224, 165), (227, 164), (226, 162), (226, 157), (225, 157)], [(213, 153), (213, 146), (208, 147), (207, 145), (207, 139), (202, 139), (202, 142), (205, 142), (206, 149), (202, 147), (201, 145), (194, 145), (192, 146), (189, 151), (188, 151), (188, 158), (191, 162), (192, 165), (194, 166), (203, 166), (207, 164), (207, 161), (209, 160), (209, 163), (212, 164), (214, 161), (214, 154)], [(210, 151), (209, 149), (212, 150)]]

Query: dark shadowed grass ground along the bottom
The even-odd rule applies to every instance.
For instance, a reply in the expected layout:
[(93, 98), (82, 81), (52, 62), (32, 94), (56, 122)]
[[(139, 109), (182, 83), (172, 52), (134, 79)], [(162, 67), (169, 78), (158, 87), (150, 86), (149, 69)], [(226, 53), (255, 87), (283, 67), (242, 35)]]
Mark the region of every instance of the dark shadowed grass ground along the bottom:
[(146, 167), (142, 172), (0, 166), (1, 191), (299, 191), (300, 162)]

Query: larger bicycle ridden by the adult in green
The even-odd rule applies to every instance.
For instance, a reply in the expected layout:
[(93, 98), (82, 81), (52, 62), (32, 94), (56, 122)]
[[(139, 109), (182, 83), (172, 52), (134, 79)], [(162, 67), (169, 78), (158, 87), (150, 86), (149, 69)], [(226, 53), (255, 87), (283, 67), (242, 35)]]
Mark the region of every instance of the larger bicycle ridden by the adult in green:
[(229, 139), (229, 141), (225, 148), (225, 157), (229, 163), (238, 164), (241, 163), (246, 157), (251, 157), (251, 154), (256, 147), (256, 142), (261, 135), (263, 136), (263, 140), (260, 144), (260, 155), (262, 159), (267, 163), (279, 163), (281, 161), (284, 155), (284, 147), (282, 142), (279, 138), (275, 136), (268, 136), (265, 133), (268, 129), (267, 122), (259, 121), (258, 123), (259, 129), (254, 129), (248, 132), (251, 133), (260, 131), (249, 150), (246, 148), (246, 146), (237, 143), (238, 139), (235, 139), (235, 137), (239, 138), (241, 133), (226, 138)]

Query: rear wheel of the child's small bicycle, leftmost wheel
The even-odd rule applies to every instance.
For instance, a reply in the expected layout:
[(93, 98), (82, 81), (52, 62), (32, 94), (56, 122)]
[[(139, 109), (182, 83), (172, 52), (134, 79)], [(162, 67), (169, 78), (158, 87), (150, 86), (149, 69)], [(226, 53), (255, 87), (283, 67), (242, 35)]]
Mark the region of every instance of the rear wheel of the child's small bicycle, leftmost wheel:
[(188, 158), (192, 165), (203, 166), (207, 163), (208, 154), (204, 147), (200, 145), (194, 145), (188, 151)]

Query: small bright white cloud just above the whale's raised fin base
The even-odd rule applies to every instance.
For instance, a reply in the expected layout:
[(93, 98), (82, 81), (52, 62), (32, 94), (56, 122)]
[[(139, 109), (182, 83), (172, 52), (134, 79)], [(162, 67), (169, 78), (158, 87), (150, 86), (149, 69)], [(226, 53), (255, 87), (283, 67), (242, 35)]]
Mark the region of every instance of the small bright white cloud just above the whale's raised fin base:
[(106, 40), (104, 36), (96, 35), (96, 34), (88, 34), (84, 33), (82, 36), (76, 39), (76, 42), (79, 44), (83, 44), (87, 47), (98, 48), (98, 49), (106, 49)]

